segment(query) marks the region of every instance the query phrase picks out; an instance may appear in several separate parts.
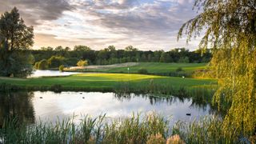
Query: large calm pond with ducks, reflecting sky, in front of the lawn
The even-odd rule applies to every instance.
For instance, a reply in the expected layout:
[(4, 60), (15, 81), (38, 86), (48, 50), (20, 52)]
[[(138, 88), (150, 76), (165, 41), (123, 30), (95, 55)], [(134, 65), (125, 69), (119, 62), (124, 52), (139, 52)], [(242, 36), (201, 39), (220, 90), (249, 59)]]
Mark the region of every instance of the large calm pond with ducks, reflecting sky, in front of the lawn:
[[(106, 114), (108, 118), (126, 118), (134, 113), (152, 113), (171, 117), (172, 122), (190, 121), (213, 114), (207, 104), (175, 97), (156, 98), (149, 95), (117, 95), (99, 92), (15, 92), (0, 93), (0, 124), (7, 115), (18, 115), (23, 122), (54, 122), (58, 118), (75, 120), (86, 114), (96, 117)], [(191, 114), (187, 116), (186, 114)]]

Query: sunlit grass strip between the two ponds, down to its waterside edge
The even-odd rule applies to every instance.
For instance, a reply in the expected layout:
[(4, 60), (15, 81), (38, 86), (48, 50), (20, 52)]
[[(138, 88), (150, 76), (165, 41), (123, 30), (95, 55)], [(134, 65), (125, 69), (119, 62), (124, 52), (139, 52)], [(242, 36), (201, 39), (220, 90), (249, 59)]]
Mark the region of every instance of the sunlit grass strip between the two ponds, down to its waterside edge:
[[(172, 78), (145, 74), (74, 74), (63, 77), (43, 78), (2, 78), (0, 77), (1, 89), (13, 86), (17, 89), (60, 89), (60, 90), (142, 90), (154, 89), (155, 87), (172, 88), (196, 88), (200, 86), (213, 86), (214, 79), (195, 78)], [(5, 87), (4, 87), (5, 86)], [(167, 86), (167, 87), (166, 87)], [(142, 90), (143, 91), (143, 90)], [(132, 91), (131, 91), (132, 92)]]

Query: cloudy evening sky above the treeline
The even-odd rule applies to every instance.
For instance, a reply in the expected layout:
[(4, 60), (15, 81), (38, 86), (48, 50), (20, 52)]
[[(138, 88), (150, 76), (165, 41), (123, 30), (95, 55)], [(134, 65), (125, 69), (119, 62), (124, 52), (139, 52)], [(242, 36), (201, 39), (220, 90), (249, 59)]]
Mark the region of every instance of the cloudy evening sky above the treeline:
[(177, 42), (182, 24), (196, 16), (193, 0), (0, 0), (0, 14), (16, 6), (34, 26), (33, 49), (90, 46), (101, 50), (195, 50), (198, 39)]

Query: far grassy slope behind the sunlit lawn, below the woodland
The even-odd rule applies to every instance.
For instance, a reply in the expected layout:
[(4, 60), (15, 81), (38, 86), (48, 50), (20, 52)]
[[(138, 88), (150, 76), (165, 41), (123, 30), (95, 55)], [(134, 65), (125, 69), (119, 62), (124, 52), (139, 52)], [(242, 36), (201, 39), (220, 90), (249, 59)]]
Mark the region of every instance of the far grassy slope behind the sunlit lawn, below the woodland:
[[(129, 71), (127, 68), (129, 67)], [(182, 71), (177, 71), (182, 68)], [(85, 69), (66, 70), (66, 71), (83, 71), (83, 72), (105, 72), (105, 73), (132, 73), (137, 74), (138, 70), (145, 69), (148, 74), (191, 77), (196, 70), (206, 68), (206, 63), (163, 63), (163, 62), (133, 62), (124, 63), (116, 66), (87, 66)]]

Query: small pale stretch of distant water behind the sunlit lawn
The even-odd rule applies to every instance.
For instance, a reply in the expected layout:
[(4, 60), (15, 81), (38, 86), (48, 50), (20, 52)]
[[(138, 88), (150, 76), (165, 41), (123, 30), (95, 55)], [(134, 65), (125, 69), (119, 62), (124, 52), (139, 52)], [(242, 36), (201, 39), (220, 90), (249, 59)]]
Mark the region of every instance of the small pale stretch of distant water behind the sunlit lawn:
[(34, 70), (33, 74), (29, 78), (36, 78), (42, 76), (66, 76), (71, 74), (81, 74), (78, 72), (60, 72), (58, 70)]

